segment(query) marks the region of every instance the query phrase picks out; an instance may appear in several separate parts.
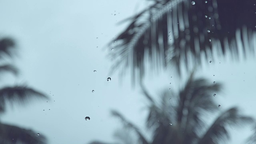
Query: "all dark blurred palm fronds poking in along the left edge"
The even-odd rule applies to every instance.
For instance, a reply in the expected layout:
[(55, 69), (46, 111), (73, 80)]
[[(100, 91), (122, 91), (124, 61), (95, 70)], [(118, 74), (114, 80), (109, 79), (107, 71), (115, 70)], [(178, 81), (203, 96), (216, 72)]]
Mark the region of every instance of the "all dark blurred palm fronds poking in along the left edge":
[[(4, 57), (12, 56), (15, 48), (15, 42), (11, 38), (0, 39), (0, 60)], [(17, 68), (12, 64), (0, 65), (0, 72), (12, 72), (18, 74)], [(4, 86), (0, 88), (0, 114), (6, 110), (6, 104), (28, 104), (33, 98), (48, 98), (41, 92), (24, 85)], [(0, 144), (45, 144), (46, 138), (42, 134), (38, 136), (37, 132), (4, 124), (0, 121)]]

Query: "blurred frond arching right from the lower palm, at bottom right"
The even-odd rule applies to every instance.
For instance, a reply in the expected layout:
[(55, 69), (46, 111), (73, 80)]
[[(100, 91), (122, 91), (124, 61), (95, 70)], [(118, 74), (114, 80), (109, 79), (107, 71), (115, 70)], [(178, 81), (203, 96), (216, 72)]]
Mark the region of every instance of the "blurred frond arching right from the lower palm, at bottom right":
[(216, 144), (221, 140), (227, 140), (230, 138), (227, 126), (242, 126), (252, 122), (254, 122), (254, 119), (239, 114), (238, 108), (230, 108), (220, 114), (198, 144)]

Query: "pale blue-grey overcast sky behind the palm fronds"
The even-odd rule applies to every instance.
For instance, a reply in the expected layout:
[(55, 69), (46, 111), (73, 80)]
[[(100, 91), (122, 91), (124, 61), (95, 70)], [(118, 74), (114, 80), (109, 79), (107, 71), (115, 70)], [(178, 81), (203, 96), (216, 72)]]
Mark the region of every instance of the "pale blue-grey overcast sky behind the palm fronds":
[[(1, 120), (44, 134), (49, 144), (113, 142), (114, 130), (122, 125), (110, 110), (145, 128), (142, 92), (132, 88), (130, 75), (120, 79), (118, 73), (109, 73), (114, 61), (107, 56), (115, 50), (106, 44), (127, 26), (117, 25), (120, 20), (149, 4), (146, 0), (1, 0), (0, 37), (17, 41), (17, 56), (9, 61), (20, 69), (17, 77), (1, 77), (5, 82), (1, 86), (27, 84), (50, 98), (8, 107)], [(222, 110), (239, 106), (243, 114), (256, 118), (255, 61), (215, 54), (202, 62), (196, 75), (223, 83), (216, 96)], [(144, 84), (157, 98), (165, 89), (179, 90), (185, 80), (174, 71), (147, 72)], [(84, 120), (86, 116), (90, 121)], [(231, 128), (230, 143), (243, 144), (251, 129)]]

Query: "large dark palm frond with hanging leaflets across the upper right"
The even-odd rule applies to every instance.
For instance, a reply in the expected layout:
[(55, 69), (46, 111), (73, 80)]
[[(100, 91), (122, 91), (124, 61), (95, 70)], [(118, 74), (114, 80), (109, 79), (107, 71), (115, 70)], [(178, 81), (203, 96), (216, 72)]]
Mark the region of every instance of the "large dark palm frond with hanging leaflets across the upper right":
[(210, 58), (215, 50), (235, 58), (239, 50), (244, 56), (254, 52), (255, 0), (151, 1), (152, 6), (122, 21), (130, 24), (109, 44), (116, 60), (111, 70), (123, 66), (124, 74), (131, 68), (133, 82), (143, 78), (148, 59), (154, 70), (174, 66), (180, 74), (180, 64), (188, 68), (190, 57), (196, 65), (202, 54)]

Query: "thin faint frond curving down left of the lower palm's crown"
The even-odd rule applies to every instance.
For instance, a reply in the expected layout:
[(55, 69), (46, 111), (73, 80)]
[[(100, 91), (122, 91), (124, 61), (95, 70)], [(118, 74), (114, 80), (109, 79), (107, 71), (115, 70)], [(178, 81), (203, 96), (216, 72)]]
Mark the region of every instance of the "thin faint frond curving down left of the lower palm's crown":
[(143, 136), (143, 134), (140, 132), (140, 130), (131, 122), (129, 122), (128, 120), (126, 120), (124, 118), (124, 116), (122, 116), (122, 114), (120, 114), (119, 112), (112, 110), (112, 115), (116, 116), (118, 118), (120, 118), (120, 120), (122, 120), (122, 122), (124, 123), (124, 126), (126, 126), (127, 128), (131, 128), (132, 130), (134, 130), (139, 137), (139, 140), (142, 144), (149, 144), (148, 141), (146, 140), (146, 138)]

